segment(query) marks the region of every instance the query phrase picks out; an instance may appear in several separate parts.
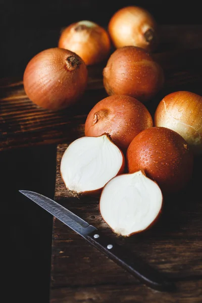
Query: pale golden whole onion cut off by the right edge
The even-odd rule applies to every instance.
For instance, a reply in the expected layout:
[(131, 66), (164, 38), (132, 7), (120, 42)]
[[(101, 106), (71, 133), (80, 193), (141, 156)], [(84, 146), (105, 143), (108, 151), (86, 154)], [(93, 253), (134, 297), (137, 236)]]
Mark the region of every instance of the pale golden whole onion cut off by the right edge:
[(202, 154), (202, 97), (189, 91), (165, 96), (155, 113), (155, 125), (179, 133), (193, 149)]

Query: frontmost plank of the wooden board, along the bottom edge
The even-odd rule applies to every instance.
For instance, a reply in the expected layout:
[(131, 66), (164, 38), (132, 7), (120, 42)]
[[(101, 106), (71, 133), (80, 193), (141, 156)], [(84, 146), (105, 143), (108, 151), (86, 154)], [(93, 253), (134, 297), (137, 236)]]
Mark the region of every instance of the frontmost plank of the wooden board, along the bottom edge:
[(201, 303), (202, 281), (177, 283), (174, 293), (162, 293), (137, 283), (63, 287), (52, 291), (51, 303)]

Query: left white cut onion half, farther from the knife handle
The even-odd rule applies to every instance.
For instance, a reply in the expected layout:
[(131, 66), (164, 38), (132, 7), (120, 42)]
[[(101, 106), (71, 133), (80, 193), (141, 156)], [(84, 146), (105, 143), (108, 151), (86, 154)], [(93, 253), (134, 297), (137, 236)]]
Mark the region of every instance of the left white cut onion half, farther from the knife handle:
[(77, 195), (102, 189), (123, 172), (124, 166), (122, 151), (104, 134), (72, 142), (62, 157), (60, 169), (65, 186)]

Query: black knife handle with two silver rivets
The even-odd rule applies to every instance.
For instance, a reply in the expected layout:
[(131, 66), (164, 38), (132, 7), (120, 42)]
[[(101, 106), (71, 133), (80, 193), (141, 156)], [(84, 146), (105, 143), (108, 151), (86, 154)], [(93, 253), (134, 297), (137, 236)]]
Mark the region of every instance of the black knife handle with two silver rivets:
[(99, 231), (88, 234), (84, 236), (84, 238), (151, 288), (161, 291), (171, 291), (175, 289), (174, 283), (166, 278), (164, 274), (146, 264), (140, 257), (129, 254), (124, 247), (113, 243), (110, 238)]

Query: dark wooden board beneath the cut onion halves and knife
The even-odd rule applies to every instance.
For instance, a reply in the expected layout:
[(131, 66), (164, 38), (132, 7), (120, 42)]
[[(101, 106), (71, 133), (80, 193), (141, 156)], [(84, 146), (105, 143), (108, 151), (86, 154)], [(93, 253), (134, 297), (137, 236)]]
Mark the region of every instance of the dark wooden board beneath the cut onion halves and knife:
[(139, 283), (59, 220), (54, 220), (51, 302), (182, 302), (202, 300), (202, 159), (195, 161), (189, 186), (165, 197), (157, 224), (128, 238), (115, 235), (99, 213), (98, 197), (71, 198), (60, 176), (67, 144), (58, 146), (55, 199), (112, 237), (127, 250), (166, 273), (176, 282), (173, 293), (161, 293)]

